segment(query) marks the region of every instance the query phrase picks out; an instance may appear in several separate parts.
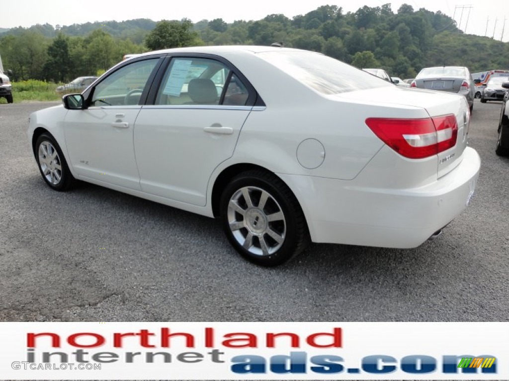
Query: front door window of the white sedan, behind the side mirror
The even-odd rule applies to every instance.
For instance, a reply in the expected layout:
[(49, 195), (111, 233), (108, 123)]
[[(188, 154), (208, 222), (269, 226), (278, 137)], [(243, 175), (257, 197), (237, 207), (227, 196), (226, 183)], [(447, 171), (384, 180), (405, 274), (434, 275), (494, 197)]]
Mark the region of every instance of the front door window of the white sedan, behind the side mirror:
[(137, 105), (158, 60), (133, 62), (106, 77), (95, 87), (91, 106)]

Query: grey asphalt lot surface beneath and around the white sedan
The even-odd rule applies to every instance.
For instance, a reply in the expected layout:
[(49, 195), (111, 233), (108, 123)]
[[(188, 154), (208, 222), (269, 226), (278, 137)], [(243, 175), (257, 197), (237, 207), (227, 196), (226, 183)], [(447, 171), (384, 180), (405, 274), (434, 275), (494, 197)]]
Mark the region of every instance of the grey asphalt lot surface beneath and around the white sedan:
[(214, 219), (86, 183), (51, 190), (26, 129), (55, 104), (0, 105), (0, 321), (507, 321), (498, 102), (475, 102), (476, 194), (441, 237), (415, 249), (313, 244), (271, 269), (242, 260)]

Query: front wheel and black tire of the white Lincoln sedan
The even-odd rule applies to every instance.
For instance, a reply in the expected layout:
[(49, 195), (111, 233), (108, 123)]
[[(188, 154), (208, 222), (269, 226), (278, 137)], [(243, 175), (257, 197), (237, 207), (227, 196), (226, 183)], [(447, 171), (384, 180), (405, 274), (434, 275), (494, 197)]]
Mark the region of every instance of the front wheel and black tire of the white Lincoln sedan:
[(69, 190), (76, 180), (72, 175), (64, 154), (54, 138), (41, 134), (35, 144), (35, 157), (42, 178), (54, 190)]

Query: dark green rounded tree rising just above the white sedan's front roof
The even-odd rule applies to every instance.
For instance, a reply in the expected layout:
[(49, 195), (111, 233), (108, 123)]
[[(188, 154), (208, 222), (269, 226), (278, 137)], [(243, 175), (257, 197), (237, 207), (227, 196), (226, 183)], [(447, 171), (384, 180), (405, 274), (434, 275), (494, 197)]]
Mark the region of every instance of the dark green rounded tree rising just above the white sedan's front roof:
[(189, 20), (167, 21), (162, 20), (147, 35), (145, 45), (150, 50), (180, 48), (183, 46), (202, 45), (203, 41), (197, 32), (192, 30)]

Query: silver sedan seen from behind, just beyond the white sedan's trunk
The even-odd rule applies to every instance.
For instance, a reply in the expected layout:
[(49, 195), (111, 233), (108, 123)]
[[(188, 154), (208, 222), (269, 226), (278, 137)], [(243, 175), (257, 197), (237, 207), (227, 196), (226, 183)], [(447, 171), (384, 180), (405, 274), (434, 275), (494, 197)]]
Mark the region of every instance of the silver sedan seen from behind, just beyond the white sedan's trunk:
[(470, 112), (474, 107), (474, 81), (465, 67), (424, 68), (417, 74), (410, 87), (457, 93), (466, 98)]

